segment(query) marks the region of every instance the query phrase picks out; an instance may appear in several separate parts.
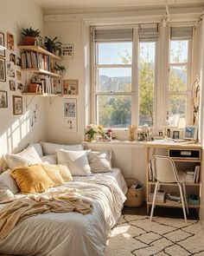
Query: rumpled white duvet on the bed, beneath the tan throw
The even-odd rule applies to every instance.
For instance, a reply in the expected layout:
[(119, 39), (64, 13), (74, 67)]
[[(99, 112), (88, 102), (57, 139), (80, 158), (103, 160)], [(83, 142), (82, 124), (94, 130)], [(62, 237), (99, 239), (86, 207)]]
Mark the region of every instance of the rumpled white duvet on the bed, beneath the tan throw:
[[(104, 255), (106, 239), (118, 221), (125, 200), (127, 188), (120, 170), (75, 177), (63, 187), (80, 189), (81, 197), (92, 202), (92, 213), (45, 213), (23, 220), (4, 240), (0, 240), (0, 253)], [(61, 188), (54, 187), (49, 191)]]

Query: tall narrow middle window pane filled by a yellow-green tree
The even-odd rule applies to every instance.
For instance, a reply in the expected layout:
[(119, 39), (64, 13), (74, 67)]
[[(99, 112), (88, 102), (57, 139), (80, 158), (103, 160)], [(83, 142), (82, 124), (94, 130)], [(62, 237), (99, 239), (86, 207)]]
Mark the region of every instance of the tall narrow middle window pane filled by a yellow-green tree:
[(154, 42), (139, 43), (139, 125), (153, 125), (155, 46)]

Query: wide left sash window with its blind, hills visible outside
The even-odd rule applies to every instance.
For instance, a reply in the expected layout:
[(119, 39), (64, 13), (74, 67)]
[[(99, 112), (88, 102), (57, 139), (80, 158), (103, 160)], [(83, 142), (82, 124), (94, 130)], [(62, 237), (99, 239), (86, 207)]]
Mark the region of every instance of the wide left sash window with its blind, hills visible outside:
[(133, 94), (132, 30), (96, 30), (95, 39), (97, 123), (126, 128), (131, 124)]

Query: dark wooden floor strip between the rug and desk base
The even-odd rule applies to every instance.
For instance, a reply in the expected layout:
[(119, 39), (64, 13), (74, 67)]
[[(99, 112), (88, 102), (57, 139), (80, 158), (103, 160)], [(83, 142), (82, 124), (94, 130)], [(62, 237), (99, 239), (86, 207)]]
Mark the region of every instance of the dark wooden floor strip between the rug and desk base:
[[(131, 215), (147, 215), (147, 206), (143, 203), (142, 207), (124, 207), (123, 214)], [(150, 215), (150, 213), (148, 214)], [(156, 207), (154, 210), (154, 216), (163, 218), (175, 218), (183, 219), (182, 208), (175, 207)], [(187, 215), (188, 220), (199, 220), (198, 213), (196, 209), (189, 209), (189, 214)]]

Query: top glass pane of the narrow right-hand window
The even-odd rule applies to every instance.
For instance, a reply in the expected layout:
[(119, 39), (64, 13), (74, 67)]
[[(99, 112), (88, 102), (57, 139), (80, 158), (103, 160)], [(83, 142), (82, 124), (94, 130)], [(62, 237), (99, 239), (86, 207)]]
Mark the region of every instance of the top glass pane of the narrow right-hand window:
[(188, 62), (188, 40), (170, 42), (170, 63)]

